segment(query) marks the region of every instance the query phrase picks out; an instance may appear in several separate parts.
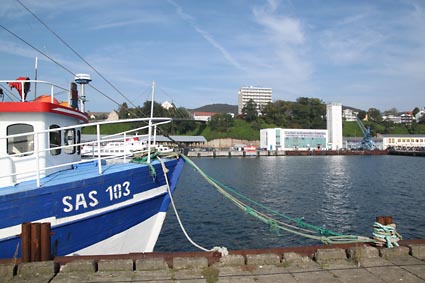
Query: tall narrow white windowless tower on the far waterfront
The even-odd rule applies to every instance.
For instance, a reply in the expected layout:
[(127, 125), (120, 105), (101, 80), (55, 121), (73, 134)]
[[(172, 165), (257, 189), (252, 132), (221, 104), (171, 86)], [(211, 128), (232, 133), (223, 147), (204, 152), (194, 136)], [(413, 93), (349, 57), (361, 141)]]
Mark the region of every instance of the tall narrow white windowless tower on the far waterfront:
[(342, 148), (342, 105), (329, 103), (326, 105), (328, 148), (337, 150)]

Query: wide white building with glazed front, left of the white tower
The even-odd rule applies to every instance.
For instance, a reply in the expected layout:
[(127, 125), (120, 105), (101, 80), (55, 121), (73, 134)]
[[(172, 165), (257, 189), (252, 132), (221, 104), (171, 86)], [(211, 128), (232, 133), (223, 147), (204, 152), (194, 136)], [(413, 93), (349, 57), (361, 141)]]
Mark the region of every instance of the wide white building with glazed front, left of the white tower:
[(261, 129), (260, 148), (265, 150), (320, 150), (326, 148), (327, 137), (327, 130)]

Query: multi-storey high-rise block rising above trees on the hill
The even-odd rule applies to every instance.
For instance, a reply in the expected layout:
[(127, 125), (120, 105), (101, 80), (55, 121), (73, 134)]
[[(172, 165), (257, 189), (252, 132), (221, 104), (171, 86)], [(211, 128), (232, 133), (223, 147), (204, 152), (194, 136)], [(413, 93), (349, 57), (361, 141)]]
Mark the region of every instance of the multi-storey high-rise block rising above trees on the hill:
[(272, 102), (272, 89), (266, 87), (242, 87), (238, 92), (238, 114), (242, 114), (242, 108), (253, 100), (257, 104), (257, 112), (261, 114), (261, 108)]

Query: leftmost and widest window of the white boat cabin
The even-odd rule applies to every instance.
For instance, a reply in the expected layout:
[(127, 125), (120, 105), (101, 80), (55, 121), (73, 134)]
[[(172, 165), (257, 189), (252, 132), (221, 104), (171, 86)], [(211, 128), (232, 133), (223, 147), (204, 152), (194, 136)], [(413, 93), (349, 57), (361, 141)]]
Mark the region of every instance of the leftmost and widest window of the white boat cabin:
[(7, 138), (7, 153), (25, 156), (34, 153), (34, 135), (25, 133), (34, 132), (34, 127), (28, 124), (13, 124), (7, 127), (7, 136), (20, 135)]

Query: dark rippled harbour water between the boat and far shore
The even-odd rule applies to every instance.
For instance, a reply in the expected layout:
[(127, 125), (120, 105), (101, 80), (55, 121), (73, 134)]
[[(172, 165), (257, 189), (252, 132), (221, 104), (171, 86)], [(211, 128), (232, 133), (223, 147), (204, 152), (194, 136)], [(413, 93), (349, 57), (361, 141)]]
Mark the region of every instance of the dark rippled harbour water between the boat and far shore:
[[(425, 158), (313, 156), (192, 158), (214, 179), (292, 217), (332, 231), (371, 236), (378, 215), (392, 215), (405, 239), (425, 238)], [(192, 239), (206, 248), (259, 249), (319, 244), (277, 235), (236, 208), (186, 165), (175, 203)], [(196, 251), (170, 206), (156, 251)]]

